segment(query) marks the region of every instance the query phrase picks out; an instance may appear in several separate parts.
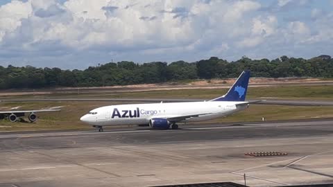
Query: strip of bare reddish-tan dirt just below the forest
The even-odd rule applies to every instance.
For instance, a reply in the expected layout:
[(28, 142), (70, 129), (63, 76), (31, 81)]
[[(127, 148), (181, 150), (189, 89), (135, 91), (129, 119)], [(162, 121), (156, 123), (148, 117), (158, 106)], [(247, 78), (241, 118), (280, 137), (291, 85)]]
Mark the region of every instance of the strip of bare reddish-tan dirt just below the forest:
[[(56, 89), (12, 89), (0, 91), (0, 97), (33, 95), (36, 97), (49, 94), (81, 94), (92, 92), (112, 92), (114, 94), (133, 91), (163, 91), (177, 89), (223, 89), (234, 83), (236, 78), (194, 80), (192, 82), (165, 82), (161, 84), (134, 84), (108, 87), (62, 87)], [(251, 78), (250, 87), (271, 87), (287, 84), (333, 84), (333, 80), (320, 78)]]

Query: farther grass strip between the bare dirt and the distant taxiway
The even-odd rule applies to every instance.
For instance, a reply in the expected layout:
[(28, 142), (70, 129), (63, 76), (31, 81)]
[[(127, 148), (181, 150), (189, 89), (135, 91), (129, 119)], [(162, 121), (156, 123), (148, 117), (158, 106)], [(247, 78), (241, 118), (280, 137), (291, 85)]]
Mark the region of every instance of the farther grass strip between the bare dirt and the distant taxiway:
[[(228, 89), (174, 89), (162, 91), (105, 92), (87, 94), (53, 94), (57, 98), (198, 98), (209, 100), (225, 94)], [(291, 100), (333, 100), (333, 86), (250, 87), (247, 98)]]

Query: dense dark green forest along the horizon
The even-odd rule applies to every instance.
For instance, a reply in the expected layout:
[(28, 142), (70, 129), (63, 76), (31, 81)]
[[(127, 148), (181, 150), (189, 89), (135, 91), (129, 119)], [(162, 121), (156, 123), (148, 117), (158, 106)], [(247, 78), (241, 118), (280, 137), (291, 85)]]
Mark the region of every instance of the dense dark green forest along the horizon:
[(282, 56), (275, 60), (251, 60), (242, 57), (228, 62), (218, 57), (198, 62), (134, 62), (107, 63), (89, 66), (85, 70), (35, 68), (33, 66), (0, 66), (0, 89), (26, 89), (47, 87), (101, 87), (111, 85), (157, 83), (198, 78), (235, 78), (245, 69), (252, 77), (333, 77), (333, 60), (329, 55), (309, 60)]

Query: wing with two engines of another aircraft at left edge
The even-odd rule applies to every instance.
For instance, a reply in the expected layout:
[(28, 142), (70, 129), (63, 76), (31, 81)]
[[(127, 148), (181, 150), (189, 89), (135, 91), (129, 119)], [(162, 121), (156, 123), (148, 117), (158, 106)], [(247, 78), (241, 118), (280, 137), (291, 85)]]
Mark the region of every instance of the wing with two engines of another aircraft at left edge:
[(24, 117), (26, 113), (28, 114), (28, 119), (31, 123), (37, 121), (36, 112), (56, 112), (60, 109), (36, 109), (36, 110), (12, 110), (12, 111), (0, 111), (0, 120), (8, 118), (10, 122), (16, 122), (18, 118)]

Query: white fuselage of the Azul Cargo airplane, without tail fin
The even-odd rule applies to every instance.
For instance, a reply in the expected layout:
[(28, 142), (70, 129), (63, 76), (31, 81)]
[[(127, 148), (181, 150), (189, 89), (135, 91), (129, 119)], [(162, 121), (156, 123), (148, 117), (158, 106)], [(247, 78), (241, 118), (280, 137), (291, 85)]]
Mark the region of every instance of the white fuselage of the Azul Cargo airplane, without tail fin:
[[(81, 121), (89, 125), (148, 125), (152, 118), (192, 116), (180, 122), (207, 121), (228, 116), (246, 108), (237, 105), (247, 102), (214, 101), (187, 103), (153, 103), (133, 105), (111, 105), (93, 109)], [(200, 114), (200, 115), (199, 115)]]

